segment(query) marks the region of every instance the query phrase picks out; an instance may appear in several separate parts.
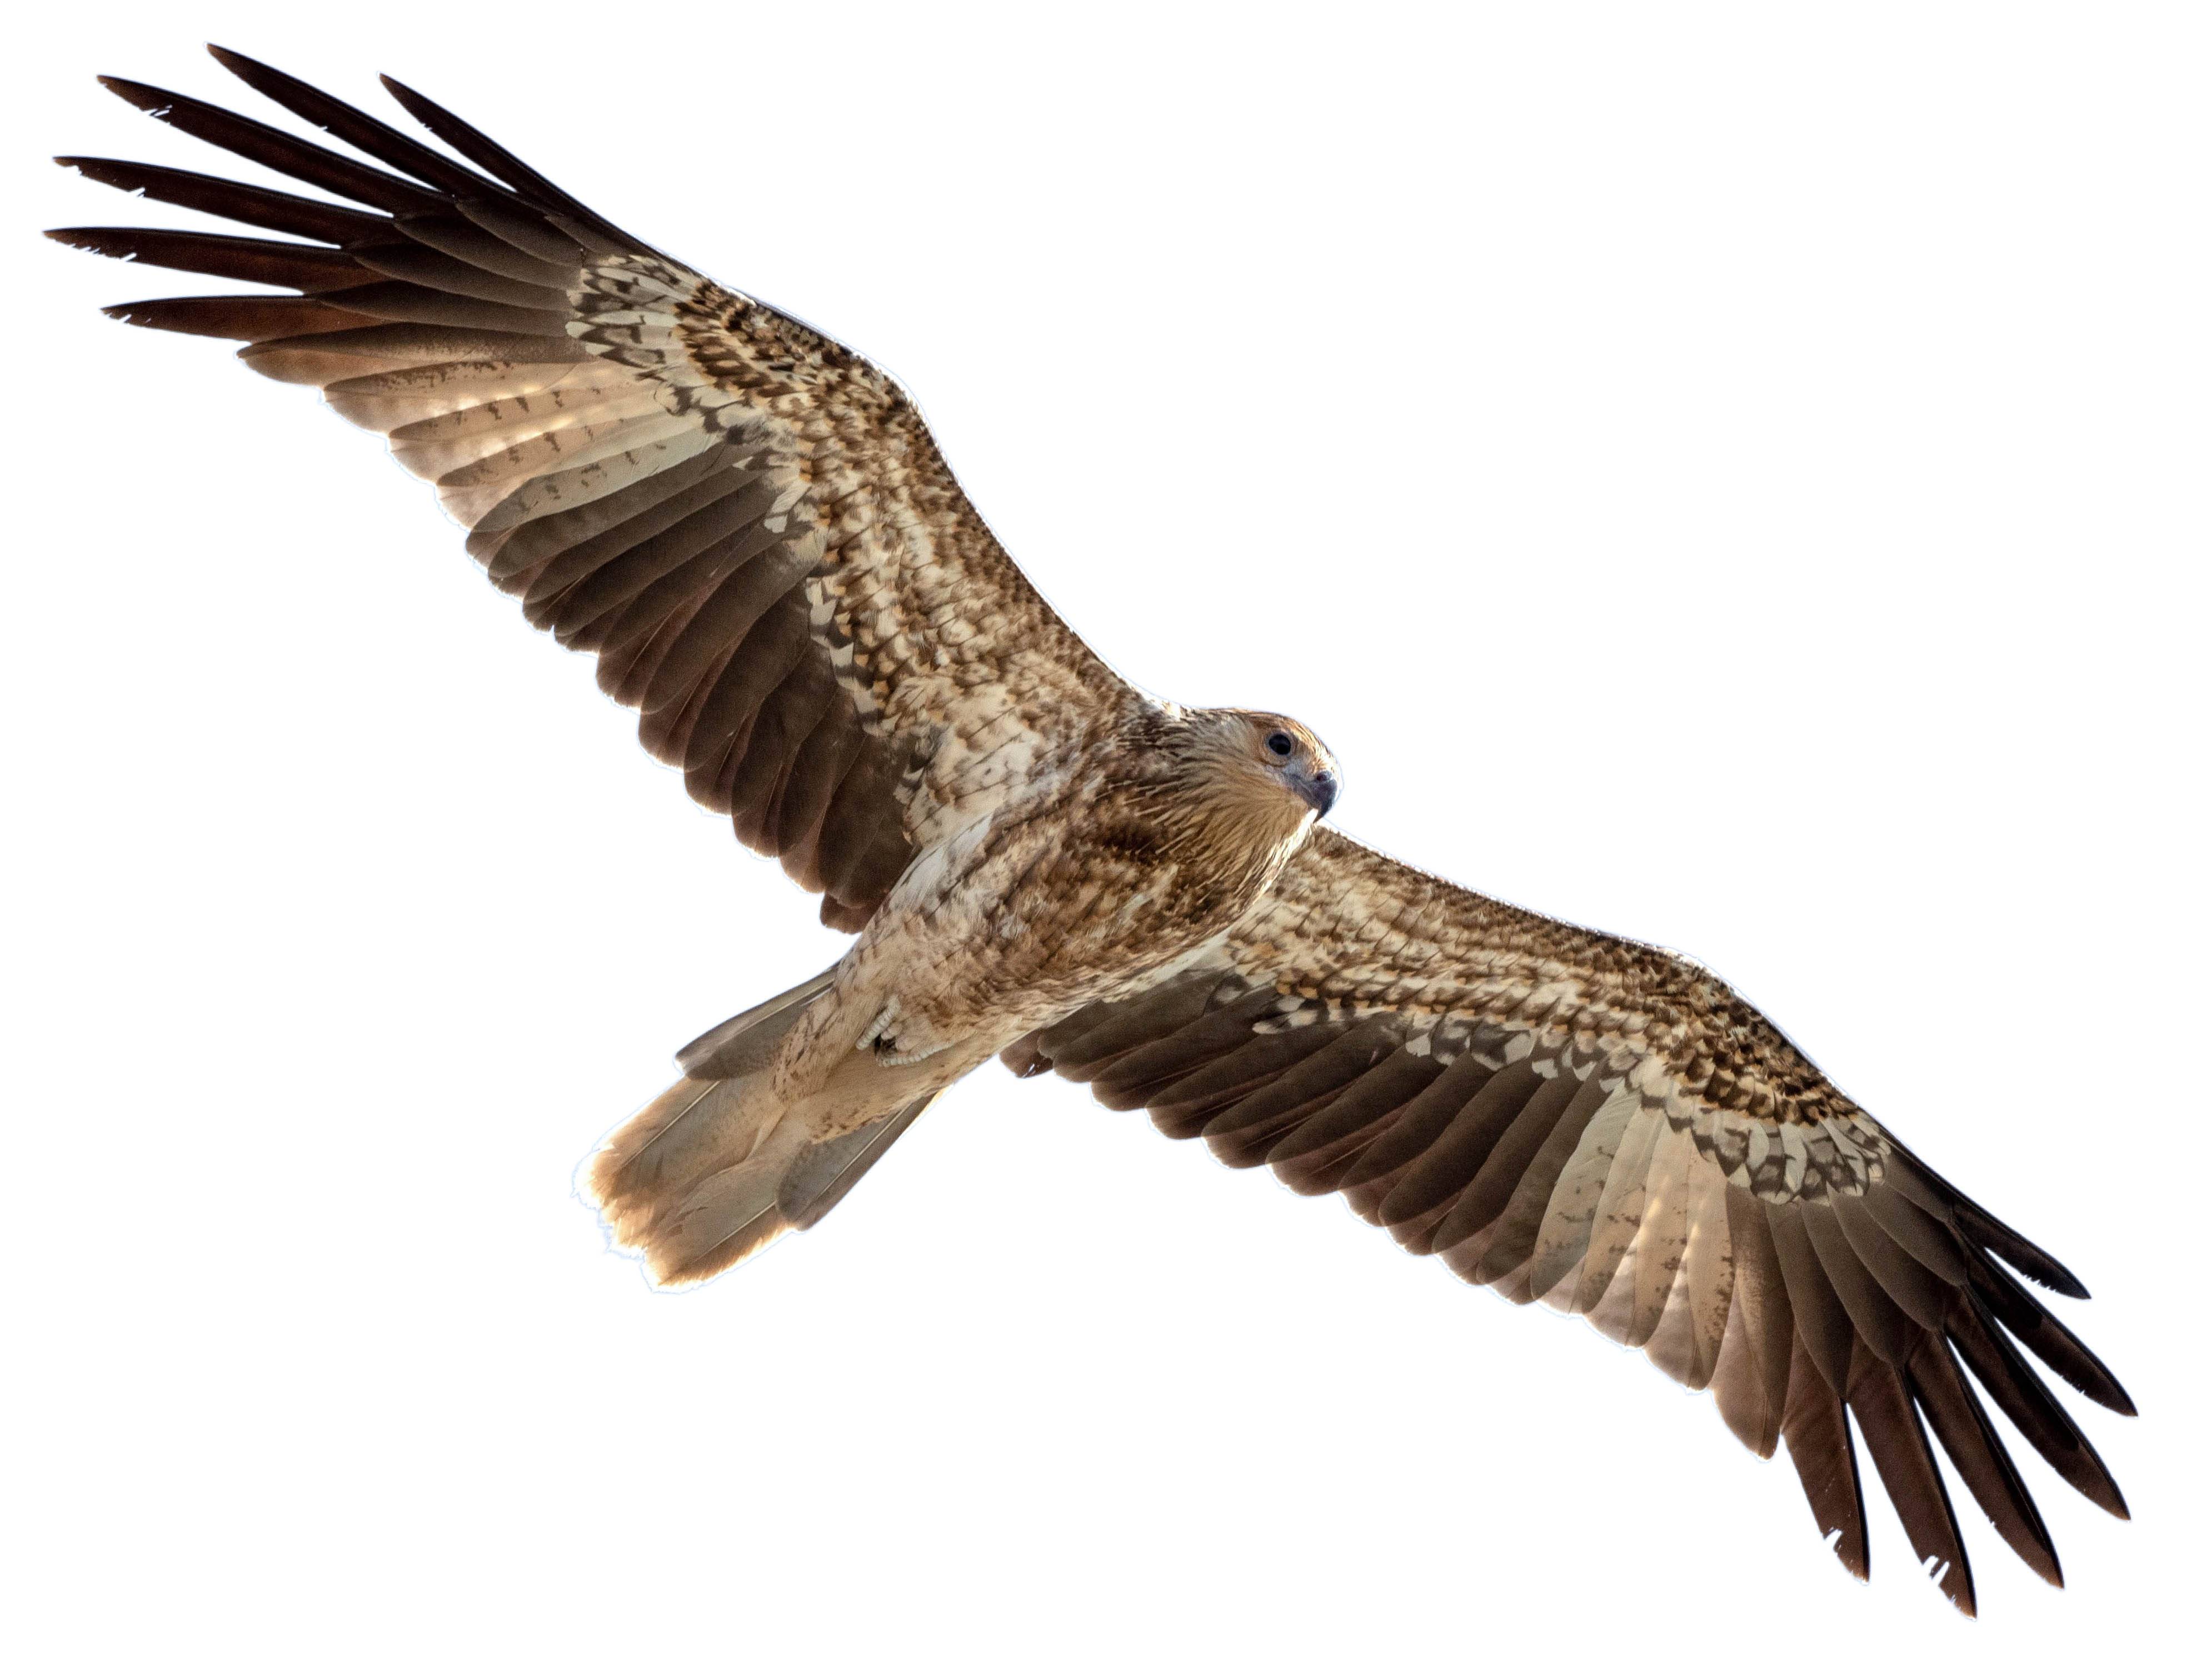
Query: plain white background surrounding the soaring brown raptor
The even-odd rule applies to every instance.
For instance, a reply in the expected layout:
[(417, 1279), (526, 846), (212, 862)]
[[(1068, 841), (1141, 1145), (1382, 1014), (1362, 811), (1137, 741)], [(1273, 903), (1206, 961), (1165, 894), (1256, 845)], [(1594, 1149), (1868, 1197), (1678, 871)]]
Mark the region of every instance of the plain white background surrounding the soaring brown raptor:
[[(2201, 1637), (2199, 9), (188, 13), (0, 102), (11, 1650)], [(91, 82), (290, 124), (204, 35), (821, 321), (1124, 672), (1712, 962), (2097, 1292), (2135, 1524), (2035, 1464), (2064, 1595), (1964, 1491), (1980, 1628), (1878, 1502), (1860, 1588), (1639, 1356), (998, 1068), (650, 1294), (577, 1161), (838, 940), (367, 436), (95, 312), (206, 279), (31, 241), (190, 221), (55, 150), (265, 179)]]

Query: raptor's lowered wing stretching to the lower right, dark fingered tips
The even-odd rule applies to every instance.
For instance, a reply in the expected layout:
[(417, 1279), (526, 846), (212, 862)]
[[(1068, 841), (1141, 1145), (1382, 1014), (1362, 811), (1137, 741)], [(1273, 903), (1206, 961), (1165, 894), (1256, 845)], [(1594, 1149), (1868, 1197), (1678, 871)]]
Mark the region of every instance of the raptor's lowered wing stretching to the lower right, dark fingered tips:
[(1298, 1192), (1343, 1192), (1407, 1250), (1579, 1312), (1710, 1387), (1761, 1458), (1787, 1442), (1860, 1577), (1854, 1422), (1960, 1608), (1973, 1579), (1927, 1429), (2004, 1542), (2059, 1579), (1969, 1374), (2053, 1469), (2126, 1515), (2015, 1343), (2099, 1405), (2135, 1407), (1997, 1263), (2068, 1296), (2081, 1285), (1686, 958), (1321, 830), (1199, 967), (1004, 1060), (1146, 1106), (1168, 1135), (1203, 1135)]

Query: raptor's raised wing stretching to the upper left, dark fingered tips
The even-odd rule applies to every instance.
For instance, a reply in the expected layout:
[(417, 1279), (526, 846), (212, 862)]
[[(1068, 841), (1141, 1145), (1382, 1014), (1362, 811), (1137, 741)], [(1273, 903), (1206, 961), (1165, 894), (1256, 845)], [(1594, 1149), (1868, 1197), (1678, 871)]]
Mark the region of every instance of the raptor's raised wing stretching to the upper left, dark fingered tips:
[[(692, 796), (858, 929), (911, 856), (1133, 692), (1022, 577), (920, 414), (867, 358), (717, 288), (385, 82), (482, 173), (215, 51), (367, 166), (190, 97), (159, 119), (345, 201), (62, 157), (281, 237), (80, 228), (60, 241), (294, 294), (113, 305), (248, 341), (429, 478), (491, 580)], [(405, 177), (403, 177), (405, 175)], [(489, 175), (489, 177), (487, 177)]]

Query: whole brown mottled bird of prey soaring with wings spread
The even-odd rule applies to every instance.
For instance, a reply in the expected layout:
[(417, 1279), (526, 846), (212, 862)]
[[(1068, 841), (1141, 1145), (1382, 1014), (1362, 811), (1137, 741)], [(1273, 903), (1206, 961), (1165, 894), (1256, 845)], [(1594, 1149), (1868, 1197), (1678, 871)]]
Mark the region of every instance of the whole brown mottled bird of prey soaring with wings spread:
[(290, 290), (108, 310), (246, 341), (248, 367), (380, 431), (524, 615), (597, 655), (646, 748), (856, 933), (684, 1048), (681, 1082), (593, 1157), (591, 1197), (657, 1283), (821, 1221), (998, 1055), (1343, 1192), (1413, 1254), (1712, 1389), (1761, 1458), (1790, 1447), (1860, 1577), (1858, 1442), (1973, 1610), (1933, 1431), (2004, 1542), (2059, 1582), (1984, 1398), (2126, 1515), (2022, 1356), (2132, 1413), (2013, 1274), (2081, 1296), (2075, 1276), (1721, 980), (1323, 827), (1329, 750), (1294, 719), (1119, 679), (867, 358), (407, 86), (385, 82), (445, 150), (215, 55), (367, 159), (108, 80), (323, 195), (62, 157), (274, 239), (51, 234)]

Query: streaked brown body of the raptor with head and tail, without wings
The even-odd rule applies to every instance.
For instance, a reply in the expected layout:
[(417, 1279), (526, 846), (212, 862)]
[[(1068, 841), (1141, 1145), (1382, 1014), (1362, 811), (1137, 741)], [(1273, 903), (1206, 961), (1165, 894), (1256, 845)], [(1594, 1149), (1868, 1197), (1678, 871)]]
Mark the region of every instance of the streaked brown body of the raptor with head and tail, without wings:
[(1166, 703), (1042, 754), (1035, 776), (1011, 799), (942, 805), (958, 821), (774, 1044), (748, 1026), (743, 1062), (710, 1046), (695, 1068), (714, 1088), (679, 1084), (595, 1159), (593, 1199), (661, 1283), (712, 1276), (803, 1225), (814, 1194), (790, 1179), (810, 1159), (874, 1161), (1000, 1048), (1188, 969), (1307, 838), (1316, 807), (1298, 781), (1334, 792), (1296, 721)]

